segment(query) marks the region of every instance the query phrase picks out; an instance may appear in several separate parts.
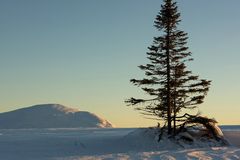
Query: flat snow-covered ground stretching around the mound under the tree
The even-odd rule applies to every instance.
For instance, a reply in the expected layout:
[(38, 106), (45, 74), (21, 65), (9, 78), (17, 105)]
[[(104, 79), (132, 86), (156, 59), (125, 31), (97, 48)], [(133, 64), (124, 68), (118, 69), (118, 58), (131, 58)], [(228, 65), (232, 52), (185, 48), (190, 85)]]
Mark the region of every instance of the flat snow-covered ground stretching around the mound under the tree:
[[(140, 131), (140, 132), (139, 132)], [(184, 149), (152, 143), (144, 129), (0, 130), (1, 160), (240, 159), (240, 131), (224, 131), (232, 146)], [(170, 147), (170, 148), (169, 148)]]

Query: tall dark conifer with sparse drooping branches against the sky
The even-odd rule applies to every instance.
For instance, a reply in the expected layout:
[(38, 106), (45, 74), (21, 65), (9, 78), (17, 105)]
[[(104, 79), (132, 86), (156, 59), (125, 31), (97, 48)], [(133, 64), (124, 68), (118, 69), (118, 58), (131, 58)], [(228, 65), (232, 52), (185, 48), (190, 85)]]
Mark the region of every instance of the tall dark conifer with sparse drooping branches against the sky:
[(179, 22), (177, 3), (164, 0), (154, 21), (160, 36), (154, 37), (153, 44), (148, 47), (150, 63), (139, 66), (147, 78), (130, 80), (151, 98), (130, 98), (126, 101), (133, 106), (144, 103), (136, 109), (144, 115), (163, 119), (168, 126), (168, 134), (176, 133), (177, 122), (184, 121), (186, 115), (180, 115), (181, 111), (201, 104), (210, 86), (210, 81), (199, 80), (187, 69), (186, 63), (193, 59), (186, 46), (187, 34), (178, 29)]

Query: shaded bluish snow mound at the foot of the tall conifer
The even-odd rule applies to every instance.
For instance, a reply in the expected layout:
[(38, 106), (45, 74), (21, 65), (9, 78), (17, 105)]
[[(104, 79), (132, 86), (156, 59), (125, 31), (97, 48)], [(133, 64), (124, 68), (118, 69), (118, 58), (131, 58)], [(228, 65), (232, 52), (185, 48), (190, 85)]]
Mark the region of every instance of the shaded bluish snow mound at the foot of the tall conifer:
[(127, 134), (124, 140), (126, 142), (132, 141), (131, 144), (137, 146), (139, 150), (146, 150), (146, 148), (151, 150), (176, 150), (179, 148), (191, 149), (228, 146), (228, 143), (224, 137), (222, 137), (222, 139), (216, 140), (214, 138), (204, 136), (197, 137), (193, 132), (192, 134), (189, 132), (181, 132), (176, 135), (175, 138), (169, 138), (167, 132), (164, 132), (159, 139), (159, 133), (160, 128), (139, 128)]

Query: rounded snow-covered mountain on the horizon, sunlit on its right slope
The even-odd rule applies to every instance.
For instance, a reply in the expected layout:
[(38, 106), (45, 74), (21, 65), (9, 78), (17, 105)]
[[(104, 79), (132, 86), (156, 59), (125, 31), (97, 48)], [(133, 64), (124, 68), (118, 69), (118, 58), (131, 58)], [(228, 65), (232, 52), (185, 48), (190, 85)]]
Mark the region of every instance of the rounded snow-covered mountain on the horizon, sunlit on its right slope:
[(111, 128), (113, 126), (93, 113), (60, 104), (35, 105), (0, 113), (0, 129), (76, 127)]

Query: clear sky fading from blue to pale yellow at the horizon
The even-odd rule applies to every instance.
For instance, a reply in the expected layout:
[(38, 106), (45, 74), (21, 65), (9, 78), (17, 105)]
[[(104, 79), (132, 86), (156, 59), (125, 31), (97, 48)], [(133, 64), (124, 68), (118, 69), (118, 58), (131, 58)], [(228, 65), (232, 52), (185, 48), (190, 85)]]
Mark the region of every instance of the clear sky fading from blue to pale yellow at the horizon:
[[(124, 100), (145, 96), (147, 47), (161, 0), (0, 0), (0, 112), (60, 103), (118, 127), (155, 125)], [(178, 0), (190, 69), (211, 79), (204, 115), (240, 124), (240, 1)]]

